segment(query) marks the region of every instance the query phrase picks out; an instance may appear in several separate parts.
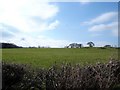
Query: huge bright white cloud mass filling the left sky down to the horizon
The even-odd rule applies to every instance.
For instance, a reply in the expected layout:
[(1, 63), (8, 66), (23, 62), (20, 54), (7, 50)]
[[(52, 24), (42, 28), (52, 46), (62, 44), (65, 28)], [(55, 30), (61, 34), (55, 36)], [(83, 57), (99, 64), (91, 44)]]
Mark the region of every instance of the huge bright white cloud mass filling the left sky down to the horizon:
[(67, 42), (65, 40), (36, 35), (57, 28), (60, 24), (59, 20), (55, 19), (58, 12), (57, 5), (43, 0), (0, 0), (0, 36), (3, 36), (1, 41), (20, 46), (64, 46)]

